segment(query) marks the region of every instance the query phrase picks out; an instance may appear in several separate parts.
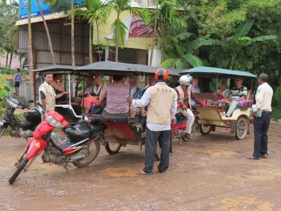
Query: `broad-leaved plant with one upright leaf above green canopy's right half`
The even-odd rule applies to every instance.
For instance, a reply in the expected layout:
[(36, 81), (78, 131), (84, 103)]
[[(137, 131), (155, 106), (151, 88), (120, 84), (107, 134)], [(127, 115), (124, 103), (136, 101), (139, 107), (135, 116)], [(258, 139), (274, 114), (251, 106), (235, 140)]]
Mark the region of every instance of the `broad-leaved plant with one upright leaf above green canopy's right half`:
[(276, 39), (275, 35), (266, 35), (254, 38), (246, 37), (246, 34), (248, 34), (248, 32), (250, 31), (253, 23), (254, 19), (250, 19), (247, 22), (240, 24), (234, 36), (228, 37), (224, 40), (208, 39), (201, 42), (199, 45), (219, 44), (223, 46), (230, 52), (231, 60), (229, 64), (229, 69), (233, 69), (235, 58), (243, 47), (250, 45), (256, 41)]

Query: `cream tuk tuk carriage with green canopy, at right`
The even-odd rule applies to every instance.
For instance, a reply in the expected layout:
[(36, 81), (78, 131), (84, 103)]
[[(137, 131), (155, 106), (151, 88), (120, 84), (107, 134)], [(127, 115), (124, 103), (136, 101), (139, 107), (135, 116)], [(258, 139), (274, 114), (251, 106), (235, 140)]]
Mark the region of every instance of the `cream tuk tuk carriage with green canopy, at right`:
[[(216, 79), (216, 90), (218, 90), (219, 79), (233, 79), (237, 76), (242, 76), (244, 79), (251, 79), (251, 89), (248, 89), (247, 97), (245, 100), (239, 101), (239, 106), (233, 111), (230, 117), (227, 117), (227, 102), (221, 102), (220, 104), (208, 105), (206, 109), (202, 108), (200, 105), (193, 105), (199, 111), (198, 114), (198, 127), (202, 135), (207, 135), (210, 131), (215, 131), (216, 127), (223, 127), (230, 131), (231, 135), (239, 140), (242, 140), (249, 134), (249, 124), (250, 124), (250, 109), (253, 103), (252, 95), (252, 79), (256, 76), (242, 71), (231, 71), (229, 69), (221, 69), (214, 67), (195, 67), (183, 71), (180, 75), (190, 74), (191, 76), (205, 77)], [(216, 93), (196, 93), (197, 97), (206, 102), (207, 100), (213, 100), (216, 102)]]

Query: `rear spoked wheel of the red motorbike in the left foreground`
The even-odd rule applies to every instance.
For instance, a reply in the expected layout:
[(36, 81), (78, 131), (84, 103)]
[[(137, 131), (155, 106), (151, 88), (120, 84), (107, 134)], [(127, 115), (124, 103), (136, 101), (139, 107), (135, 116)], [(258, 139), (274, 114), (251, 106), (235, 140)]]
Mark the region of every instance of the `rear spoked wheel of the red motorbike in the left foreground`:
[(93, 160), (95, 160), (97, 158), (97, 156), (100, 152), (100, 149), (101, 149), (101, 145), (98, 140), (94, 140), (93, 142), (91, 142), (90, 144), (88, 144), (85, 147), (88, 148), (86, 157), (73, 162), (74, 166), (79, 167), (79, 168), (88, 166)]

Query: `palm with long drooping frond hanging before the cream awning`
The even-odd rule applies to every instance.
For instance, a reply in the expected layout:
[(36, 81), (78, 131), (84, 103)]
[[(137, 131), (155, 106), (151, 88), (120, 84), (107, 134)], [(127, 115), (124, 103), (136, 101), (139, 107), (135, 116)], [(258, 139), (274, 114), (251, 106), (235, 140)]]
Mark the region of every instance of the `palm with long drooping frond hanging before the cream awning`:
[(113, 32), (113, 40), (115, 41), (115, 61), (118, 62), (118, 47), (124, 48), (127, 38), (127, 27), (120, 19), (120, 14), (125, 11), (129, 11), (131, 15), (136, 14), (141, 17), (145, 24), (149, 23), (150, 11), (147, 9), (133, 8), (130, 6), (131, 0), (110, 0), (108, 5), (110, 11), (114, 11), (117, 14), (117, 18), (111, 25)]

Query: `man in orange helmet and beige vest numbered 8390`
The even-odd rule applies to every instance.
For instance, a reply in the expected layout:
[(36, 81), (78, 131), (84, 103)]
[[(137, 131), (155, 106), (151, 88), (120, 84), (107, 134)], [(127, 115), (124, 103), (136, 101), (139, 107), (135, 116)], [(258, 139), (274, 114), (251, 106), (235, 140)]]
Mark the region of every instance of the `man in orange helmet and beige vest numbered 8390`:
[(148, 105), (145, 168), (137, 171), (137, 174), (152, 174), (157, 140), (162, 151), (157, 169), (165, 174), (169, 168), (171, 122), (177, 110), (177, 93), (167, 86), (168, 78), (169, 73), (166, 69), (157, 69), (157, 83), (147, 88), (142, 99), (133, 100), (129, 97), (129, 102), (132, 102), (134, 107)]

